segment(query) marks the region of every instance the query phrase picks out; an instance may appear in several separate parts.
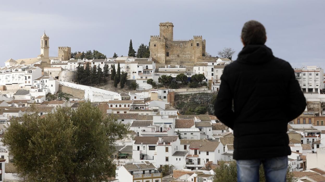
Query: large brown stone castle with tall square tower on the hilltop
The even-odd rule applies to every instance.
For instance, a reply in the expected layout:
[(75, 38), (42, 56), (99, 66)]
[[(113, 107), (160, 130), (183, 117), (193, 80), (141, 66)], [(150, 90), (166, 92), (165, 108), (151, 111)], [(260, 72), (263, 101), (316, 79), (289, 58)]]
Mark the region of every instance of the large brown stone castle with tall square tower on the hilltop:
[[(160, 35), (150, 36), (150, 57), (160, 64), (192, 66), (205, 57), (205, 39), (193, 36), (190, 40), (173, 39), (173, 23), (160, 23)], [(211, 59), (210, 57), (208, 59)]]

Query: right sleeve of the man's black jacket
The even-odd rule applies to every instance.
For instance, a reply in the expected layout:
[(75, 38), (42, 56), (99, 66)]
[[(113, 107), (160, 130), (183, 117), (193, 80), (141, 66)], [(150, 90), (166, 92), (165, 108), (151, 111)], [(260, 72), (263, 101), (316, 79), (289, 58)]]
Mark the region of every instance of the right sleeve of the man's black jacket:
[[(288, 63), (289, 64), (289, 63)], [(290, 64), (289, 64), (290, 65)], [(288, 85), (288, 104), (289, 110), (287, 112), (288, 122), (296, 119), (306, 108), (306, 98), (304, 93), (301, 91), (300, 85), (296, 80), (294, 71), (290, 66), (290, 80)]]

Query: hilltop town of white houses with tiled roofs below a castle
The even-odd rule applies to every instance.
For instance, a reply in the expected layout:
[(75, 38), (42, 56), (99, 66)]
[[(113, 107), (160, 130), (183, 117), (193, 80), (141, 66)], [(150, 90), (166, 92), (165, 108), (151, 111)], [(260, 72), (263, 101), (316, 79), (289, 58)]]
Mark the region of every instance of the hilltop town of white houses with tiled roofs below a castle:
[[(0, 137), (12, 119), (36, 112), (32, 107), (46, 117), (58, 107), (77, 110), (89, 100), (105, 115), (130, 124), (129, 138), (118, 141), (111, 156), (116, 163), (112, 181), (212, 182), (220, 161), (233, 159), (232, 130), (209, 110), (207, 103), (213, 97), (193, 101), (206, 106), (186, 112), (179, 103), (190, 99), (176, 102), (176, 98), (216, 95), (223, 70), (233, 60), (206, 56), (206, 40), (201, 35), (174, 40), (173, 23), (163, 22), (159, 27), (159, 35), (148, 36), (149, 58), (75, 59), (71, 47), (59, 47), (58, 55), (50, 57), (50, 37), (44, 32), (37, 57), (8, 59), (0, 68)], [(106, 84), (78, 82), (81, 67), (96, 72), (105, 66), (109, 76), (118, 68), (119, 73), (127, 73), (125, 88), (114, 88), (109, 77)], [(311, 65), (294, 68), (294, 74), (307, 107), (288, 123), (290, 171), (297, 180), (325, 181), (324, 70)], [(21, 180), (11, 162), (14, 156), (2, 143), (0, 155), (0, 178)], [(168, 175), (161, 170), (165, 165), (172, 167)]]

